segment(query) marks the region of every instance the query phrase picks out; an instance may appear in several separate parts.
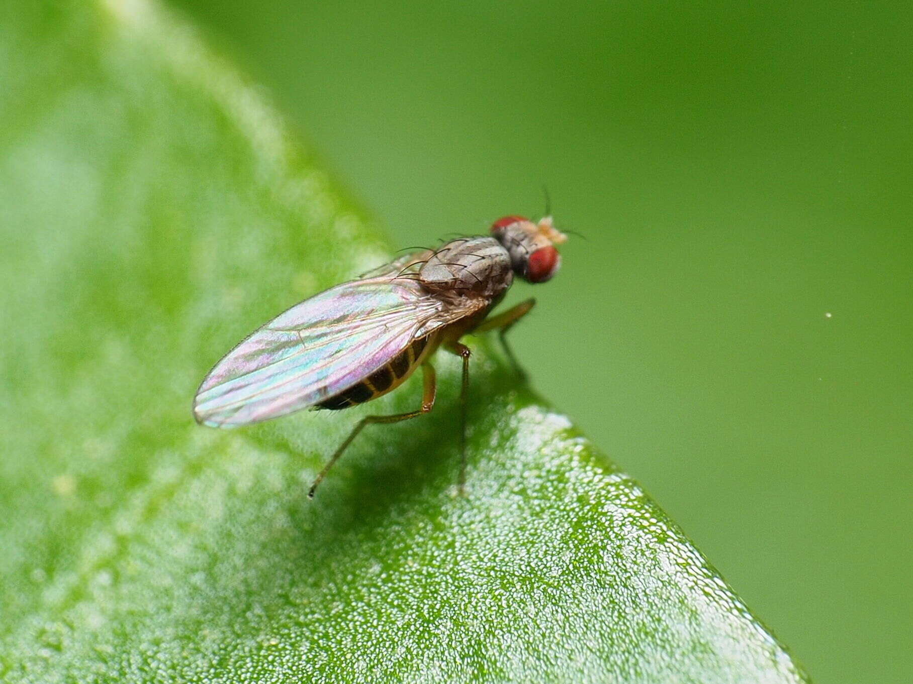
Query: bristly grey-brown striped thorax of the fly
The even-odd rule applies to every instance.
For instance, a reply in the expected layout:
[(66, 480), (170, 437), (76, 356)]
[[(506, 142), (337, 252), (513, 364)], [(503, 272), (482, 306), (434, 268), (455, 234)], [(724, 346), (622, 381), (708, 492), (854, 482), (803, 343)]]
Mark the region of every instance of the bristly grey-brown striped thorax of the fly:
[(430, 290), (495, 297), (513, 282), (508, 251), (492, 237), (457, 238), (438, 249), (418, 272)]

